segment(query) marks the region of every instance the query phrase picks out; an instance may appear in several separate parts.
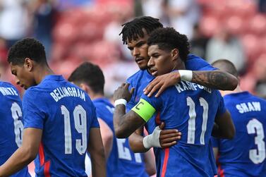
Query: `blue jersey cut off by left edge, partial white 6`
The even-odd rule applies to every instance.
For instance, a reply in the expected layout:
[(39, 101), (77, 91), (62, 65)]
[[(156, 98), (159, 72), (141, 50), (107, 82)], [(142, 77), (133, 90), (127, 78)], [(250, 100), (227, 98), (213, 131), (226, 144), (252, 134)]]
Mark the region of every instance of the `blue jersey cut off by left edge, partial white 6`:
[[(16, 87), (0, 82), (0, 166), (20, 147), (23, 135), (21, 101)], [(28, 167), (12, 175), (30, 177)]]

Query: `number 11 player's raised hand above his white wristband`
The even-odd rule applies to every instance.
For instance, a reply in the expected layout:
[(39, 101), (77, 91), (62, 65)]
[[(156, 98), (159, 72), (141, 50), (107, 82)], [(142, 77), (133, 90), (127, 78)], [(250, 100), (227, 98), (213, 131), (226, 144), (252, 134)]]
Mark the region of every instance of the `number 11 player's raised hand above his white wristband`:
[(129, 83), (123, 83), (120, 87), (118, 87), (116, 91), (114, 91), (114, 100), (126, 99), (126, 101), (128, 102), (134, 92), (134, 88), (131, 88), (131, 90), (128, 91), (128, 87)]

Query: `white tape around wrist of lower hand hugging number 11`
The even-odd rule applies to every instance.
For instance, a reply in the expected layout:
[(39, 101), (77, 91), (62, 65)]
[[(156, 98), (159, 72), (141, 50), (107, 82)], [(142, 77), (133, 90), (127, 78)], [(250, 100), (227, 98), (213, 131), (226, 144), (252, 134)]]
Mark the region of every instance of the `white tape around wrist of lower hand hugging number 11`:
[(145, 136), (145, 138), (143, 138), (143, 146), (146, 149), (150, 149), (150, 147), (161, 147), (161, 145), (159, 144), (159, 134), (161, 133), (161, 129), (159, 128), (159, 126), (157, 126), (155, 128), (155, 130), (153, 130), (152, 134)]

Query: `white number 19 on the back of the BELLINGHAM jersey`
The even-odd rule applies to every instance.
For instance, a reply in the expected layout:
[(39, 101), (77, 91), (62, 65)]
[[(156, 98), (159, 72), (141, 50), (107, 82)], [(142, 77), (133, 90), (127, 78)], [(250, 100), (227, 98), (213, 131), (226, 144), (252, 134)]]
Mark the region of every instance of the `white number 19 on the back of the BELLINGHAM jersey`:
[[(71, 137), (71, 123), (70, 113), (66, 106), (61, 106), (61, 112), (64, 116), (64, 134), (65, 134), (65, 154), (72, 154), (72, 137)], [(87, 116), (83, 106), (75, 106), (73, 111), (75, 130), (81, 133), (81, 140), (75, 140), (75, 149), (79, 154), (84, 154), (87, 149)]]

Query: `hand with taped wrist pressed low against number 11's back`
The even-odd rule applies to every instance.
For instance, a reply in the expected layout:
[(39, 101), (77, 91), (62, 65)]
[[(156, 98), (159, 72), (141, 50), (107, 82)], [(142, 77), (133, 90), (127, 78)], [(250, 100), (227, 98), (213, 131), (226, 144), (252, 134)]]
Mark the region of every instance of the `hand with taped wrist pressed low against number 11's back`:
[(159, 128), (161, 129), (161, 133), (159, 134), (159, 144), (162, 148), (167, 148), (176, 145), (177, 140), (181, 139), (182, 134), (181, 132), (179, 132), (179, 130), (163, 130), (164, 123), (161, 123), (161, 125), (159, 125)]

